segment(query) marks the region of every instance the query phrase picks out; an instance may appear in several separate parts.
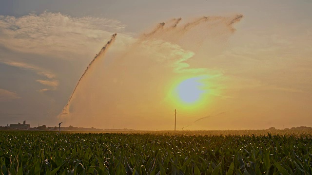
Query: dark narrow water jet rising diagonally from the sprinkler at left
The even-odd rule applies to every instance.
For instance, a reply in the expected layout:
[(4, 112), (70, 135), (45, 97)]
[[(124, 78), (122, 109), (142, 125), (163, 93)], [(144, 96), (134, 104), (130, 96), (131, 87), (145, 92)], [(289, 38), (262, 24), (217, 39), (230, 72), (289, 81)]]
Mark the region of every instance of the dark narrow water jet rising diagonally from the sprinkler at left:
[(102, 56), (103, 54), (105, 54), (105, 52), (107, 51), (107, 49), (109, 48), (109, 46), (115, 41), (115, 37), (117, 34), (112, 35), (111, 39), (105, 44), (105, 46), (102, 47), (102, 49), (99, 51), (99, 53), (94, 57), (94, 59), (89, 63), (88, 67), (86, 70), (84, 70), (84, 72), (82, 73), (82, 75), (80, 76), (78, 83), (76, 85), (76, 87), (73, 90), (73, 93), (71, 94), (71, 96), (69, 97), (69, 100), (67, 102), (67, 104), (64, 106), (61, 115), (63, 114), (68, 114), (68, 110), (69, 110), (69, 103), (73, 98), (73, 95), (75, 94), (75, 91), (81, 81), (81, 79), (84, 77), (84, 75), (87, 73), (87, 71), (90, 69), (90, 67), (92, 66), (92, 64), (94, 63), (95, 60), (97, 60), (98, 57)]

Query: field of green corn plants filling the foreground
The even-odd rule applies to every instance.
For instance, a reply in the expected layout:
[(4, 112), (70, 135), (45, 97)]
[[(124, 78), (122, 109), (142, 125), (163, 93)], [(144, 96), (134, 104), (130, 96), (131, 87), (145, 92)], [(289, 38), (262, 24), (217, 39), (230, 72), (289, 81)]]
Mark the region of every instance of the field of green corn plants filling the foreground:
[(312, 136), (0, 132), (3, 175), (311, 175)]

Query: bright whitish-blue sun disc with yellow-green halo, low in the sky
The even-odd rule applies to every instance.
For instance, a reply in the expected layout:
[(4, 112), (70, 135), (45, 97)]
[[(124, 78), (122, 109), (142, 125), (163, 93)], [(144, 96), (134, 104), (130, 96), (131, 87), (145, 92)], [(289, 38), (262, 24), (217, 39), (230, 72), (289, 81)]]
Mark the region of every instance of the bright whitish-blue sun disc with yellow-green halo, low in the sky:
[(193, 104), (197, 102), (200, 95), (204, 92), (199, 89), (202, 84), (197, 81), (198, 78), (190, 78), (181, 82), (176, 88), (180, 100), (184, 103)]

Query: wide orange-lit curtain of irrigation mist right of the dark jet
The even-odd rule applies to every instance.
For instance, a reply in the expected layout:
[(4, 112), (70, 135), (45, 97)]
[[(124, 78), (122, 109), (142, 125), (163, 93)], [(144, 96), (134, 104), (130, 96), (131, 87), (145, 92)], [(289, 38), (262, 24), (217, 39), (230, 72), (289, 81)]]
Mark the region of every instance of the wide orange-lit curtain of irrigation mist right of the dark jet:
[[(226, 77), (213, 69), (217, 63), (210, 56), (222, 54), (223, 45), (233, 34), (234, 23), (241, 18), (241, 15), (202, 16), (186, 22), (181, 18), (170, 18), (137, 38), (125, 37), (114, 57), (105, 55), (108, 59), (103, 62), (105, 69), (100, 69), (103, 65), (98, 67), (105, 51), (96, 56), (101, 58), (89, 71), (94, 60), (90, 63), (87, 77), (85, 71), (80, 78), (85, 77), (84, 81), (78, 81), (78, 89), (74, 89), (62, 114), (68, 114), (66, 120), (77, 126), (168, 129), (172, 119), (168, 115), (172, 114), (172, 108), (179, 107), (185, 112), (198, 111), (199, 117), (195, 118), (198, 120), (188, 116), (179, 118), (179, 122), (187, 125), (184, 129), (202, 122), (214, 123), (217, 119), (214, 115), (208, 117), (211, 109), (206, 106), (212, 106), (222, 95), (222, 89), (218, 87), (226, 86)], [(114, 37), (104, 46), (106, 50)], [(188, 86), (189, 91), (177, 90), (184, 80), (202, 76), (207, 78), (201, 79), (202, 85), (195, 90)], [(184, 103), (184, 94), (197, 94), (197, 90), (203, 91), (199, 100)], [(223, 109), (216, 109), (219, 110)], [(73, 118), (79, 120), (71, 120)], [(149, 126), (149, 123), (153, 125)]]

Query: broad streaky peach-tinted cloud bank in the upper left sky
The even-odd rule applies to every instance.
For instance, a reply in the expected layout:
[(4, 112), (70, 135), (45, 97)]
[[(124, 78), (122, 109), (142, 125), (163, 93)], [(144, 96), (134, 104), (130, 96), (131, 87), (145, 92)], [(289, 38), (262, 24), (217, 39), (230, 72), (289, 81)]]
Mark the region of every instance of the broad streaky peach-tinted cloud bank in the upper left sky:
[(117, 20), (60, 13), (0, 16), (0, 43), (14, 51), (68, 57), (64, 53), (93, 51), (103, 38), (123, 29)]

